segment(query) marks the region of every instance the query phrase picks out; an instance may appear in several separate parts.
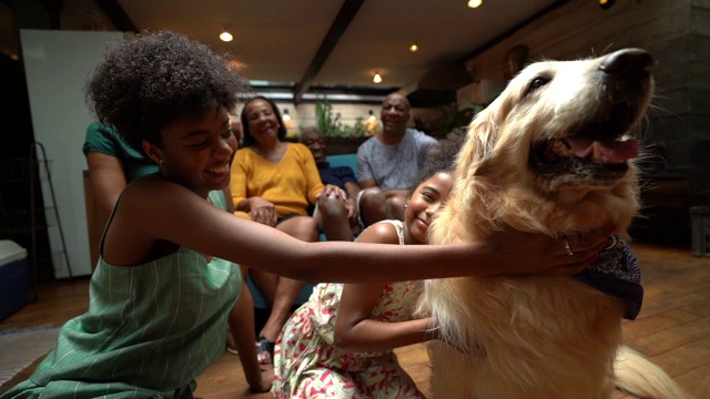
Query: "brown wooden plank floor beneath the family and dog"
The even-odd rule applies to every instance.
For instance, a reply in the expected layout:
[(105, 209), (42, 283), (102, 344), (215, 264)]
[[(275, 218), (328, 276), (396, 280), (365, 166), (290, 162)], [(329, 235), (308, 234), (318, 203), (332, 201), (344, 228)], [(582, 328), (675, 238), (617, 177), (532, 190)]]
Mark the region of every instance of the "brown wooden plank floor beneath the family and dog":
[[(628, 345), (661, 366), (698, 399), (710, 398), (710, 258), (693, 257), (688, 249), (632, 245), (643, 269), (646, 298), (639, 318), (625, 325)], [(0, 323), (7, 328), (60, 325), (88, 307), (88, 280), (41, 286), (39, 301)], [(423, 346), (397, 350), (400, 362), (419, 388), (429, 392), (428, 360)], [(0, 387), (8, 390), (30, 370)], [(196, 395), (205, 399), (268, 398), (250, 395), (239, 356), (225, 352), (197, 379)], [(615, 399), (632, 398), (617, 391)]]

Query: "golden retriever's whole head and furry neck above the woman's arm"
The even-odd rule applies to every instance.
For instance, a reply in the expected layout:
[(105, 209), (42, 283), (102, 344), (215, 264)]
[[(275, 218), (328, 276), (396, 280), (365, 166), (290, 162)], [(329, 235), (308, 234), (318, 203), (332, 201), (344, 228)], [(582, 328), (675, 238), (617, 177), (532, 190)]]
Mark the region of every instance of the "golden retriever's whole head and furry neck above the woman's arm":
[[(550, 235), (638, 213), (635, 130), (649, 106), (653, 60), (639, 49), (530, 64), (469, 125), (456, 217), (476, 238), (503, 225)], [(485, 198), (485, 201), (478, 200)]]

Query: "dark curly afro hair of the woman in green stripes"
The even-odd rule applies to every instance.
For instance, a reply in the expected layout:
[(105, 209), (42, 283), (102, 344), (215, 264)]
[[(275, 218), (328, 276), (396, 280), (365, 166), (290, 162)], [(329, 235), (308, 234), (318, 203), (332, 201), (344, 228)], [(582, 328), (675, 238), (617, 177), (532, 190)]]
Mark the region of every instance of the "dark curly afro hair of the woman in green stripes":
[(211, 109), (233, 110), (248, 82), (225, 55), (170, 31), (141, 32), (113, 44), (87, 85), (101, 122), (142, 152), (141, 141), (162, 145), (160, 132)]

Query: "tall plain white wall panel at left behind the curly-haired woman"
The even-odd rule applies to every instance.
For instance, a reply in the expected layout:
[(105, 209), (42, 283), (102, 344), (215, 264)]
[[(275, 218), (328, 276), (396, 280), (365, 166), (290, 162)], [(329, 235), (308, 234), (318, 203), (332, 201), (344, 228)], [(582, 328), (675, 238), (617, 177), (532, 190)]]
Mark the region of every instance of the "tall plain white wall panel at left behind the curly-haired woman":
[[(34, 139), (47, 151), (67, 254), (74, 276), (91, 274), (81, 146), (94, 121), (84, 101), (84, 85), (109, 42), (121, 32), (20, 30)], [(38, 158), (41, 154), (38, 153)], [(52, 205), (42, 180), (45, 206)], [(48, 221), (54, 213), (48, 212)], [(68, 277), (57, 223), (49, 228), (54, 275)]]

